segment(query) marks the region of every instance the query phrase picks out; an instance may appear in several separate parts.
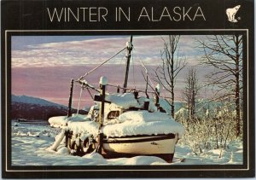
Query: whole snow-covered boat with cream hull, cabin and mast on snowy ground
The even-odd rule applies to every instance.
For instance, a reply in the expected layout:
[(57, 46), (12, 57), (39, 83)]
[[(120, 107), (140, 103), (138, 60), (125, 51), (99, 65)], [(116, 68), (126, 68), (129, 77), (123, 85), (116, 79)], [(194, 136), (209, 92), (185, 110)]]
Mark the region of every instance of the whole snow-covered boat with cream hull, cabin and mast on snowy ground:
[[(127, 50), (130, 54), (131, 42)], [(81, 78), (77, 82), (82, 88), (96, 90)], [(128, 90), (126, 85), (123, 93), (108, 93), (108, 85), (108, 79), (102, 77), (101, 89), (97, 90), (100, 95), (94, 97), (96, 105), (84, 118), (69, 114), (49, 119), (51, 125), (64, 125), (52, 149), (63, 142), (71, 154), (96, 150), (106, 158), (153, 155), (172, 162), (175, 144), (184, 129), (166, 113), (159, 93), (156, 91), (153, 100), (139, 96), (138, 90)]]

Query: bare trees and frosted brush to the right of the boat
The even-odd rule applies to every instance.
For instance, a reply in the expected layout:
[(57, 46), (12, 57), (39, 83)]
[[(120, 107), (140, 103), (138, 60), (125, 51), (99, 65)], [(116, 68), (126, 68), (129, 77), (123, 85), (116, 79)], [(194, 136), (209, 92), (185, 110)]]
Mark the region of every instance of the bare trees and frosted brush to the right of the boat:
[[(227, 148), (227, 142), (242, 137), (243, 102), (243, 38), (241, 34), (209, 35), (195, 38), (198, 55), (197, 65), (187, 67), (185, 55), (179, 52), (179, 35), (163, 38), (160, 52), (160, 66), (155, 69), (154, 80), (161, 84), (171, 98), (171, 112), (174, 119), (186, 127), (184, 142), (194, 147), (195, 154), (203, 148)], [(189, 53), (189, 52), (188, 52)], [(206, 80), (201, 84), (196, 67), (207, 70)], [(187, 70), (183, 77), (183, 112), (174, 113), (176, 80), (179, 73)], [(201, 107), (200, 96), (205, 90), (209, 104), (218, 107)], [(220, 103), (219, 103), (220, 102)], [(204, 109), (204, 111), (203, 111)], [(181, 115), (183, 114), (183, 115)]]

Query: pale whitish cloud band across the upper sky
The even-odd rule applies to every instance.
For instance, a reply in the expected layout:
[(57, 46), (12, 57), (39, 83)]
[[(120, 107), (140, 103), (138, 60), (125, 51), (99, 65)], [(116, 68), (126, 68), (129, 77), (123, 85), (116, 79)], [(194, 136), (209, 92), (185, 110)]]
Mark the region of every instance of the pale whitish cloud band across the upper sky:
[[(53, 37), (54, 39), (55, 37)], [(163, 39), (165, 36), (135, 36), (133, 38), (134, 50), (133, 59), (135, 64), (140, 64), (137, 59), (147, 64), (158, 64), (160, 62), (160, 51), (163, 49)], [(26, 38), (22, 37), (23, 41)], [(38, 44), (26, 44), (20, 49), (12, 50), (13, 67), (55, 67), (73, 66), (85, 64), (100, 64), (108, 60), (111, 56), (125, 48), (126, 41), (130, 37), (107, 37), (78, 40), (69, 40), (55, 43), (42, 43), (36, 37)], [(59, 39), (59, 37), (58, 37)], [(13, 39), (16, 44), (19, 38)], [(54, 40), (53, 40), (54, 41)], [(59, 41), (59, 40), (58, 40)], [(181, 36), (179, 51), (181, 55), (193, 56), (198, 54), (194, 47), (192, 36)], [(18, 44), (18, 43), (17, 43)], [(20, 47), (20, 44), (19, 44)], [(193, 58), (189, 58), (193, 61)], [(125, 64), (125, 52), (117, 55), (109, 64)]]

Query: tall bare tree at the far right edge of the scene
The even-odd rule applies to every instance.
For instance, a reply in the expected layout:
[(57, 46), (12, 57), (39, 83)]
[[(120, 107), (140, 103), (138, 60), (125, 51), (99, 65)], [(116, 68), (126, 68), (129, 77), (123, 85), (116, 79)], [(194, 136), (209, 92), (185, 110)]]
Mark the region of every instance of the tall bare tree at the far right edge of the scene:
[(242, 36), (216, 35), (198, 40), (203, 50), (203, 64), (214, 67), (207, 75), (216, 94), (215, 100), (232, 99), (236, 106), (236, 136), (241, 134)]

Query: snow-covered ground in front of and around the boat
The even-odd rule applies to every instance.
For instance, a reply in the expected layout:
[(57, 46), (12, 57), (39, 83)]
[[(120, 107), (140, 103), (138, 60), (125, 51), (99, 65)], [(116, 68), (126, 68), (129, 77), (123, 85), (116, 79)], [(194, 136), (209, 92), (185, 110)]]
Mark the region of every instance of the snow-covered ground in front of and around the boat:
[(201, 155), (192, 153), (189, 146), (177, 143), (172, 163), (158, 157), (137, 156), (106, 160), (101, 154), (83, 157), (68, 154), (66, 148), (47, 150), (61, 130), (46, 123), (12, 122), (12, 165), (227, 165), (242, 164), (242, 142), (230, 142), (227, 149), (205, 150)]

